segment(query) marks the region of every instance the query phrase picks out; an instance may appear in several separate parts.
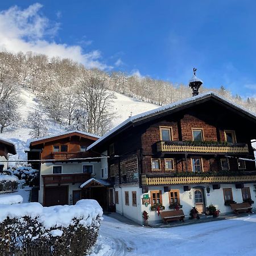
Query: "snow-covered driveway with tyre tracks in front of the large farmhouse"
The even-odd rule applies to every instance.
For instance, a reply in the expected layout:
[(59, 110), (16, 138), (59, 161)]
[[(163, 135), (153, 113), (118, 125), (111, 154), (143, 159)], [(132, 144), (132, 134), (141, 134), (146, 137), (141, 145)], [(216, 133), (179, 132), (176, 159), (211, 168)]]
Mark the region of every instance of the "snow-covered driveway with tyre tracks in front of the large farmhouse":
[(174, 228), (144, 228), (104, 216), (100, 234), (105, 250), (98, 255), (256, 255), (256, 215)]

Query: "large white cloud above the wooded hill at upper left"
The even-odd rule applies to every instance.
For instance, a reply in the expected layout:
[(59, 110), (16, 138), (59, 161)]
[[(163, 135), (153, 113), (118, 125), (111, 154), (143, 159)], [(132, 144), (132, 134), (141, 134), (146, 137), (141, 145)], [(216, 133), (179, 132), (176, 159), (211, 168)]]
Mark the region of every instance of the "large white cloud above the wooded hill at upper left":
[(82, 63), (87, 68), (109, 69), (101, 61), (101, 52), (98, 50), (84, 52), (81, 46), (59, 44), (47, 40), (46, 36), (55, 36), (59, 23), (51, 23), (40, 14), (40, 3), (30, 5), (21, 10), (18, 6), (10, 7), (0, 12), (0, 48), (10, 52), (36, 52), (49, 57), (59, 56), (70, 58)]

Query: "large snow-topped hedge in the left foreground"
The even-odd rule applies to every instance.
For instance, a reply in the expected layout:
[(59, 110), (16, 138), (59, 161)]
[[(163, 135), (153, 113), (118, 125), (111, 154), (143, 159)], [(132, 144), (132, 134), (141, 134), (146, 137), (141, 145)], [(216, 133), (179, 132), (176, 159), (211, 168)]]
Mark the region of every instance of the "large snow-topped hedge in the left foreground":
[[(102, 209), (95, 200), (42, 207), (0, 205), (0, 251), (11, 255), (85, 255), (96, 243)], [(39, 255), (38, 254), (38, 255)]]

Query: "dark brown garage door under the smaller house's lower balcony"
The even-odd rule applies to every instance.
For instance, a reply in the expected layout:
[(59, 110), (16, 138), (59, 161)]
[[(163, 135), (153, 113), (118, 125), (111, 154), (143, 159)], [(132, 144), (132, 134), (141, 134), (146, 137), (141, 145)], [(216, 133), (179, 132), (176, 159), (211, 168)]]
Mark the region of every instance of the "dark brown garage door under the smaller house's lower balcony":
[(44, 206), (68, 204), (68, 187), (46, 187), (44, 188)]

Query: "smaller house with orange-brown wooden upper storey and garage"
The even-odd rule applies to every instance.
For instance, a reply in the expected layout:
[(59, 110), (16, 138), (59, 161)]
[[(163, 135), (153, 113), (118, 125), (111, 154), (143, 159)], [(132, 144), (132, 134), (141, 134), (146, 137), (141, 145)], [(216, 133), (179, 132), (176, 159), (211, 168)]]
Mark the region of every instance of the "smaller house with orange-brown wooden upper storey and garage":
[[(44, 206), (75, 204), (80, 199), (96, 199), (107, 206), (107, 166), (100, 154), (87, 148), (100, 137), (69, 131), (30, 141), (28, 163), (40, 170), (39, 203)], [(86, 182), (86, 185), (82, 185)]]

